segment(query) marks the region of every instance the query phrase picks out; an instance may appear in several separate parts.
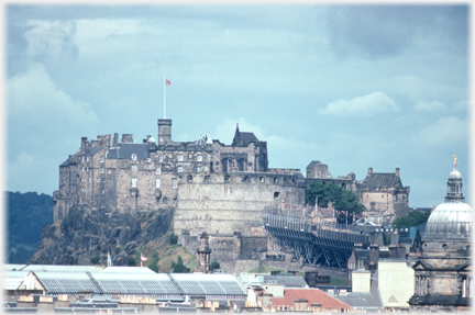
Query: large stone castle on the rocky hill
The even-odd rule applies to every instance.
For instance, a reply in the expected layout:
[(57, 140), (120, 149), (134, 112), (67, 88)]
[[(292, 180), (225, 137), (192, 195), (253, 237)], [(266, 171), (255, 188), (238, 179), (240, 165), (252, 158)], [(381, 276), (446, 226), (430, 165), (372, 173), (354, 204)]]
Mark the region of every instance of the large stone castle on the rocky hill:
[(172, 120), (158, 120), (152, 135), (134, 143), (131, 134), (81, 138), (77, 153), (59, 166), (59, 189), (53, 193), (54, 221), (76, 204), (111, 212), (175, 209), (174, 230), (180, 235), (252, 235), (269, 203), (301, 205), (313, 181), (332, 182), (353, 191), (367, 216), (387, 223), (408, 213), (409, 187), (395, 173), (369, 168), (363, 181), (353, 172), (334, 179), (328, 166), (312, 161), (307, 177), (298, 169), (269, 169), (267, 143), (236, 125), (231, 145), (200, 136), (173, 142)]

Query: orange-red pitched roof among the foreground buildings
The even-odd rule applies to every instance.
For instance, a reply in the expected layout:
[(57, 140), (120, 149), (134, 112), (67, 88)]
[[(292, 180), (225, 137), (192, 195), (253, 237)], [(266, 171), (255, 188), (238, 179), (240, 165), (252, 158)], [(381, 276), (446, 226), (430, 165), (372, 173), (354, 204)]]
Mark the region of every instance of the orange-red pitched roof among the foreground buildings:
[(308, 301), (308, 305), (321, 304), (322, 308), (346, 308), (352, 310), (353, 307), (349, 304), (341, 302), (329, 294), (324, 293), (320, 289), (284, 289), (284, 297), (274, 297), (273, 304), (275, 306), (294, 306), (296, 300), (305, 299)]

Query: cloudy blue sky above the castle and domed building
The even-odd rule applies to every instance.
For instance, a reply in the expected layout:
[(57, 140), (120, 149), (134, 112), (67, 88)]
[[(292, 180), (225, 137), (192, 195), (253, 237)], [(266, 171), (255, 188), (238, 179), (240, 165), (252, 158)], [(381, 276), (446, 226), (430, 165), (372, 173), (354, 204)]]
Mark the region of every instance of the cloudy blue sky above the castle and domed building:
[(470, 5), (5, 4), (5, 190), (53, 194), (81, 137), (236, 123), (270, 168), (400, 168), (409, 206), (471, 203)]

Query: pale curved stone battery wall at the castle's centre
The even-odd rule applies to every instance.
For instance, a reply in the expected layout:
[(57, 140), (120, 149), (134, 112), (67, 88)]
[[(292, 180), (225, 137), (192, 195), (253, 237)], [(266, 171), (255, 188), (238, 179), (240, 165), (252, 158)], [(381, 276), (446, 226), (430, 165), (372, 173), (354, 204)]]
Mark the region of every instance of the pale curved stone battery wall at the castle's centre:
[(191, 235), (252, 235), (262, 225), (266, 204), (305, 202), (305, 187), (295, 176), (267, 173), (183, 173), (179, 177), (174, 230)]

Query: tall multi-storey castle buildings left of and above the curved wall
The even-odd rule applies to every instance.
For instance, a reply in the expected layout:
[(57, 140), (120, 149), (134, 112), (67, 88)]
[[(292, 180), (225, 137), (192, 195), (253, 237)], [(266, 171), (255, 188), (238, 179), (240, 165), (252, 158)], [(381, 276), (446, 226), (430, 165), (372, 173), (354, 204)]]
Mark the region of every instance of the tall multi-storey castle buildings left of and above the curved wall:
[(54, 220), (75, 204), (106, 212), (176, 207), (181, 173), (266, 172), (267, 144), (239, 126), (233, 144), (173, 142), (172, 120), (158, 120), (158, 144), (150, 135), (133, 143), (130, 134), (81, 138), (79, 150), (59, 166), (59, 189), (53, 193)]

